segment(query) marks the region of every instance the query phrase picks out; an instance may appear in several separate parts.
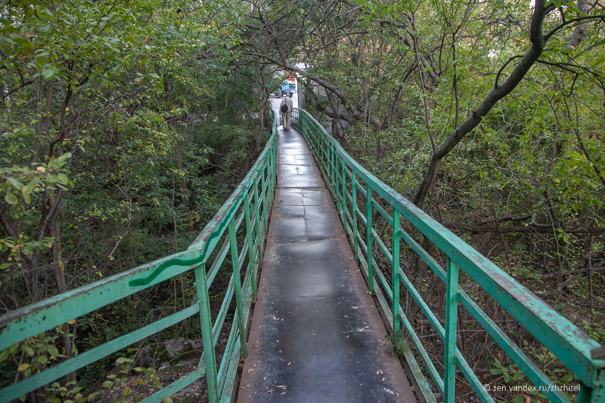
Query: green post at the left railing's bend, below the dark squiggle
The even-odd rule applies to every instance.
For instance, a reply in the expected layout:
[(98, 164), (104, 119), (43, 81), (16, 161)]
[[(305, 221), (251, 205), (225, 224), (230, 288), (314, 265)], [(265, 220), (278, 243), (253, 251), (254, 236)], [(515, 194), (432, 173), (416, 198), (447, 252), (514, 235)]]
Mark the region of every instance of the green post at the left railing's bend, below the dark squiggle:
[(201, 341), (204, 347), (203, 358), (206, 367), (208, 401), (218, 403), (217, 359), (214, 355), (214, 341), (212, 340), (212, 316), (210, 314), (208, 284), (206, 283), (206, 265), (201, 263), (195, 267), (194, 273), (195, 284), (197, 285), (197, 303), (200, 306)]

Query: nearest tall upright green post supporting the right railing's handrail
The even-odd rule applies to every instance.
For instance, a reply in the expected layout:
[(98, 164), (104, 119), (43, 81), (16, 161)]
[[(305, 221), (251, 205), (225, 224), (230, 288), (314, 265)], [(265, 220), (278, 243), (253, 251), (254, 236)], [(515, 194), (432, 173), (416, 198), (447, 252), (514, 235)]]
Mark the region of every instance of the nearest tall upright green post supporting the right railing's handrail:
[(445, 363), (443, 402), (454, 403), (456, 393), (456, 325), (458, 315), (458, 265), (448, 257), (445, 289)]

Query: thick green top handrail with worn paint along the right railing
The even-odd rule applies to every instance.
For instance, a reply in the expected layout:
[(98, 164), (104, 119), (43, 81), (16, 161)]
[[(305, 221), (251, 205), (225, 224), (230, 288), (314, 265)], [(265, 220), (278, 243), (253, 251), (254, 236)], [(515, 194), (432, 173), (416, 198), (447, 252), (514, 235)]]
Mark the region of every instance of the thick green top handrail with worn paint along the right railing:
[(322, 138), (332, 145), (336, 154), (347, 160), (360, 179), (369, 184), (371, 189), (388, 204), (393, 205), (437, 248), (456, 262), (479, 286), (492, 295), (500, 306), (517, 318), (523, 327), (551, 350), (584, 384), (592, 387), (602, 382), (598, 381), (598, 371), (605, 369), (605, 360), (593, 359), (590, 356), (591, 350), (600, 347), (597, 341), (558, 314), (551, 306), (512, 279), (450, 230), (365, 170), (342, 149), (338, 141), (325, 132), (325, 129), (312, 116), (307, 114), (307, 117), (318, 124), (320, 135), (323, 134)]

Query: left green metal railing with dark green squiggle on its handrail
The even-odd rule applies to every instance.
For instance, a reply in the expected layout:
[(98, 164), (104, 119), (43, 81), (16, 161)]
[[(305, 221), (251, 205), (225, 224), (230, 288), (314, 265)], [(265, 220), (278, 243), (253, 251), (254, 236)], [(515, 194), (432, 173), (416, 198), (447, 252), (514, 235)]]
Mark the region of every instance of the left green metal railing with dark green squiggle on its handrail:
[[(165, 385), (143, 402), (162, 402), (162, 398), (174, 395), (204, 375), (211, 403), (231, 401), (240, 356), (246, 355), (246, 326), (250, 304), (257, 292), (257, 269), (263, 262), (267, 220), (275, 194), (276, 127), (273, 112), (273, 132), (263, 152), (188, 250), (3, 315), (0, 317), (0, 352), (16, 349), (28, 338), (71, 323), (82, 315), (189, 270), (194, 271), (197, 288), (191, 305), (2, 388), (0, 403), (19, 398), (196, 314), (200, 318), (203, 343), (203, 354), (197, 368)], [(245, 228), (241, 227), (242, 223)], [(238, 239), (241, 245), (238, 245)], [(226, 260), (227, 254), (230, 254), (231, 265)], [(211, 256), (215, 257), (208, 266)], [(220, 310), (211, 312), (208, 289), (220, 270), (227, 271), (225, 276), (231, 272), (231, 280)], [(231, 330), (223, 358), (217, 366), (215, 346), (221, 330), (228, 326), (225, 319), (234, 297), (236, 309)]]

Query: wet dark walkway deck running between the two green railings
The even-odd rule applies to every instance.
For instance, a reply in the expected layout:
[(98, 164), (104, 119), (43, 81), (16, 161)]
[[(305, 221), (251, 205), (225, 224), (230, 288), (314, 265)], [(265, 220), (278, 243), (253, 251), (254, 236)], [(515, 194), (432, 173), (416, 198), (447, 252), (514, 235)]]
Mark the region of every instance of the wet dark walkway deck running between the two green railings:
[(239, 403), (416, 402), (302, 136), (278, 179)]

